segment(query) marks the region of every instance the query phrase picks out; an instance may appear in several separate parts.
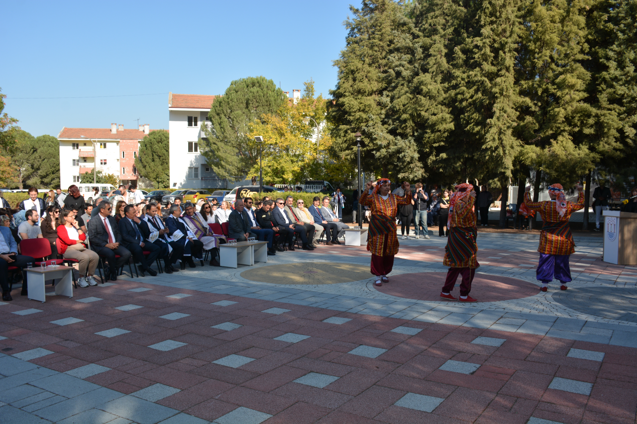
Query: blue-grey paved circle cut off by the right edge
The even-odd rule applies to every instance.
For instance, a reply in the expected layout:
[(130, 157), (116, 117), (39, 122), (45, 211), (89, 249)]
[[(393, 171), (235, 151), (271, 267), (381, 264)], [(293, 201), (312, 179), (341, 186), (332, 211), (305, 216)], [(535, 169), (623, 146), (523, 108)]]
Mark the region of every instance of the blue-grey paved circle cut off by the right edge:
[(553, 293), (562, 306), (610, 320), (637, 322), (637, 288), (572, 288)]

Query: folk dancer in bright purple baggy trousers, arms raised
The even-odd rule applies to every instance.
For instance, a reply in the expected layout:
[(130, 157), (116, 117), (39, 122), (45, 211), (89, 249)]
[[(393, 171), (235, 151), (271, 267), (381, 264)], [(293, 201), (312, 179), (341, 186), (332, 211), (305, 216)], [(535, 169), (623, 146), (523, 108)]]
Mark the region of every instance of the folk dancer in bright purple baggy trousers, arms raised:
[(566, 290), (566, 283), (571, 281), (571, 269), (568, 266), (568, 258), (575, 253), (575, 242), (568, 220), (571, 213), (584, 207), (584, 193), (582, 186), (577, 186), (579, 192), (577, 203), (567, 202), (564, 196), (564, 188), (560, 184), (548, 187), (550, 201), (533, 202), (529, 193), (531, 187), (526, 188), (524, 203), (527, 208), (537, 211), (544, 224), (540, 233), (540, 263), (536, 271), (536, 278), (542, 282), (542, 292), (546, 292), (548, 283), (553, 277), (562, 283), (561, 290)]

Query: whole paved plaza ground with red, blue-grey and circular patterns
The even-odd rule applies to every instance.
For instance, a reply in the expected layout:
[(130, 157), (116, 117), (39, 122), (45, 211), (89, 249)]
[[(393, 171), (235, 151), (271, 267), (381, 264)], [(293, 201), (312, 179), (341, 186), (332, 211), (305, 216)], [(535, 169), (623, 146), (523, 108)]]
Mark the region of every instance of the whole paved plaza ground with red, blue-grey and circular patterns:
[(15, 295), (0, 423), (635, 423), (637, 267), (575, 237), (569, 289), (541, 293), (537, 238), (479, 234), (458, 304), (446, 240), (401, 241), (379, 288), (343, 244)]

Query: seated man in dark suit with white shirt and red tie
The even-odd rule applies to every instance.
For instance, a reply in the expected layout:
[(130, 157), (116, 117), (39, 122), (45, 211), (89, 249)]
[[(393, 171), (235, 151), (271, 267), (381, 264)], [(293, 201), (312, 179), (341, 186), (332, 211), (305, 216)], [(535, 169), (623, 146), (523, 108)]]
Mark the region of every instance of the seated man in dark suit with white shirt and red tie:
[[(119, 232), (115, 217), (111, 216), (109, 202), (101, 202), (98, 206), (99, 214), (89, 221), (90, 248), (97, 255), (106, 258), (110, 269), (110, 277), (117, 280), (117, 270), (131, 259), (131, 251), (121, 245), (122, 235)], [(115, 262), (115, 255), (120, 258)], [(106, 270), (104, 269), (104, 272)], [(108, 274), (108, 272), (106, 272)]]

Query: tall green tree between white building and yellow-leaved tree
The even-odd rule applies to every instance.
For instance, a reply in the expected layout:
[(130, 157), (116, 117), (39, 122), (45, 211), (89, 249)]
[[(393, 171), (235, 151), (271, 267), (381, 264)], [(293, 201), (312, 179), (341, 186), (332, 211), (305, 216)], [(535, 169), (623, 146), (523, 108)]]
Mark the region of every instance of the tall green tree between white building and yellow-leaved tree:
[(248, 124), (275, 113), (287, 101), (284, 97), (274, 81), (257, 76), (232, 81), (224, 95), (215, 99), (208, 113), (211, 126), (201, 124), (206, 137), (199, 141), (199, 152), (218, 177), (241, 180), (248, 175), (259, 160)]

